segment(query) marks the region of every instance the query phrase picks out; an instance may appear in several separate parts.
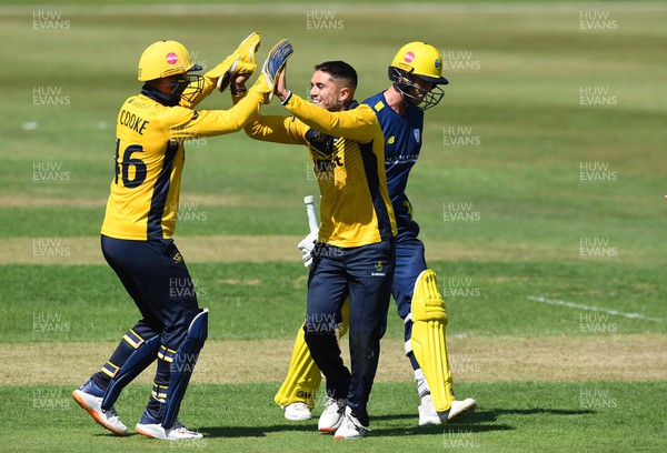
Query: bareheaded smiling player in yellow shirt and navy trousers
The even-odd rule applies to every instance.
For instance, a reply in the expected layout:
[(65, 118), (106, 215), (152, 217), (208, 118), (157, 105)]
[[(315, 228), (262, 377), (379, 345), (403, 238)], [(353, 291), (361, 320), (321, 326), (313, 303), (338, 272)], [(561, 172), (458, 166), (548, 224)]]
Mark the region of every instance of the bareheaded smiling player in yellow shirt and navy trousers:
[[(329, 399), (318, 429), (354, 439), (364, 436), (369, 425), (367, 404), (387, 324), (396, 220), (382, 131), (372, 110), (354, 101), (356, 71), (342, 61), (325, 62), (315, 67), (311, 84), (319, 93), (315, 104), (289, 92), (282, 72), (276, 94), (292, 115), (258, 115), (245, 130), (257, 140), (309, 150), (321, 192), (321, 225), (303, 335), (327, 378)], [(348, 295), (350, 370), (336, 339)]]

